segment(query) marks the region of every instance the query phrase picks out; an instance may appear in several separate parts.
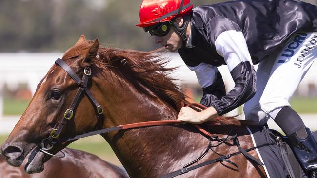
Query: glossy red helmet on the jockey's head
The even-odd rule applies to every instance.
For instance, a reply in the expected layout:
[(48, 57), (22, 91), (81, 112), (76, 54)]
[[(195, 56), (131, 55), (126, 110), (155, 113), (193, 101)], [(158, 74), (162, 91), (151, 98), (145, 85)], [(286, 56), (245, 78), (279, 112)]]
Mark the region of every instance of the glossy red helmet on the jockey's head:
[(149, 27), (158, 22), (170, 21), (177, 16), (179, 8), (182, 9), (178, 16), (189, 14), (193, 9), (190, 0), (143, 0), (140, 7), (139, 27)]

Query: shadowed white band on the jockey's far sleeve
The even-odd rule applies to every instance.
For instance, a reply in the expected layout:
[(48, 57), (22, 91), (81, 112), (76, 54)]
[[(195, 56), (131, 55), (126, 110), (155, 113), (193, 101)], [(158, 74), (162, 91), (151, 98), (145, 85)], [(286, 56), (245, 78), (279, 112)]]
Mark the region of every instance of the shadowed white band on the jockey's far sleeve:
[(206, 63), (200, 63), (198, 66), (188, 66), (191, 71), (195, 71), (201, 88), (212, 85), (216, 78), (218, 69), (215, 66)]

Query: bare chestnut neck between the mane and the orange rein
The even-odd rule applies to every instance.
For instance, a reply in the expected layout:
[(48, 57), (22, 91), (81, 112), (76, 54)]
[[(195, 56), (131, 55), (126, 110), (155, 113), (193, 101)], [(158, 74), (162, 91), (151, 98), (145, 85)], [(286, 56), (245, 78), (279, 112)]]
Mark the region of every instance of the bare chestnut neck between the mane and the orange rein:
[(107, 117), (111, 120), (111, 122), (105, 122), (104, 127), (177, 119), (178, 111), (166, 101), (155, 96), (150, 89), (146, 89), (148, 93), (141, 92), (127, 79), (123, 79), (111, 71), (103, 71), (103, 73), (109, 74), (97, 83), (100, 89), (105, 89), (100, 92), (103, 96)]

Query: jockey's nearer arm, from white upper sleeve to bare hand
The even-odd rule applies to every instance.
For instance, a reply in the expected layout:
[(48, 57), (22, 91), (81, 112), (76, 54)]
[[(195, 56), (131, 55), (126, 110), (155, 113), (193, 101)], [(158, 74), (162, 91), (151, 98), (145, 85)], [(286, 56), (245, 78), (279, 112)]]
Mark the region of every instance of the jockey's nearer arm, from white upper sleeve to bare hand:
[(221, 98), (216, 97), (213, 93), (205, 95), (210, 100), (210, 108), (200, 114), (194, 110), (182, 108), (178, 116), (179, 120), (196, 124), (202, 123), (239, 107), (254, 96), (256, 73), (251, 64), (251, 56), (242, 32), (236, 27), (232, 29), (234, 30), (219, 33), (215, 37), (215, 46), (217, 53), (224, 58), (228, 66), (235, 82), (234, 89)]

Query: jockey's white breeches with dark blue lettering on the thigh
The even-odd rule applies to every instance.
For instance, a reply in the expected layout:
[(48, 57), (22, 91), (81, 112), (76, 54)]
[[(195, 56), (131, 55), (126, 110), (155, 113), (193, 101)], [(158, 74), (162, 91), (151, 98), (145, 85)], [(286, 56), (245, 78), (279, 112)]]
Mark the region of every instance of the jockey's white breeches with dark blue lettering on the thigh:
[(257, 92), (244, 105), (246, 120), (264, 125), (270, 116), (290, 106), (290, 99), (299, 83), (317, 58), (317, 32), (291, 36), (275, 59), (259, 63)]

